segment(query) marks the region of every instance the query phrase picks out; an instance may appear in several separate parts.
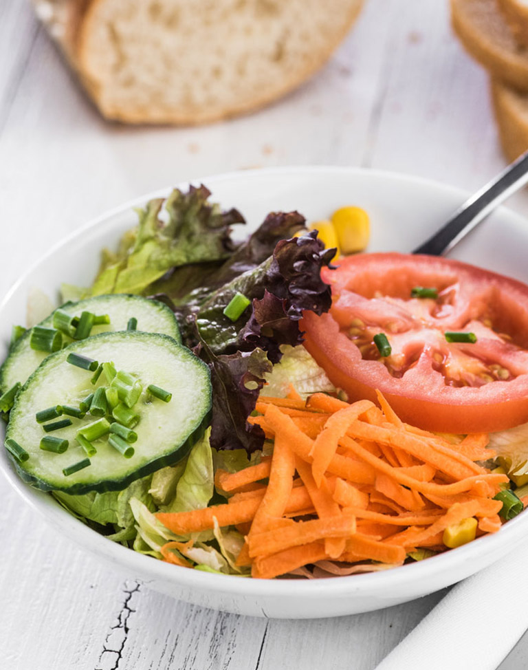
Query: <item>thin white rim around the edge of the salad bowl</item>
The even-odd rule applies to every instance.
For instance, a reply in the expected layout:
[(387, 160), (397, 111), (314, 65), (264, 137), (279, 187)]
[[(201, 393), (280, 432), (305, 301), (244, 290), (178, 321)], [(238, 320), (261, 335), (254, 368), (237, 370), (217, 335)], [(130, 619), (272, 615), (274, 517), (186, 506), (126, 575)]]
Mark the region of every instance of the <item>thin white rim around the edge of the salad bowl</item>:
[[(446, 197), (454, 197), (464, 202), (470, 195), (467, 191), (461, 188), (444, 184), (436, 180), (428, 179), (426, 177), (415, 177), (405, 173), (395, 173), (384, 170), (373, 170), (347, 166), (331, 166), (331, 165), (312, 165), (312, 166), (280, 166), (270, 167), (264, 169), (251, 169), (241, 171), (230, 171), (228, 173), (221, 173), (219, 175), (210, 175), (208, 177), (199, 177), (187, 182), (179, 182), (176, 188), (186, 188), (190, 184), (203, 183), (206, 186), (214, 186), (221, 182), (240, 179), (259, 178), (265, 175), (349, 175), (357, 177), (368, 175), (369, 178), (391, 180), (393, 182), (406, 182), (414, 186), (427, 186), (434, 188), (437, 191), (442, 191)], [(87, 230), (92, 230), (104, 224), (105, 221), (113, 219), (126, 210), (146, 203), (153, 197), (162, 197), (168, 195), (174, 186), (167, 188), (160, 188), (151, 193), (146, 193), (139, 197), (124, 202), (115, 206), (98, 217), (88, 221), (86, 224), (76, 228), (69, 235), (63, 237), (54, 244), (47, 252), (45, 252), (38, 260), (30, 264), (29, 268), (21, 274), (21, 277), (14, 282), (8, 292), (0, 301), (0, 316), (17, 293), (21, 285), (28, 281), (32, 274), (46, 263), (50, 257), (53, 257), (59, 250), (84, 235)], [(213, 193), (214, 195), (214, 193)], [(508, 217), (512, 221), (525, 224), (525, 219), (508, 210), (505, 207), (500, 207), (496, 210), (501, 217)], [(475, 556), (485, 553), (496, 552), (501, 546), (504, 549), (504, 554), (513, 550), (515, 546), (522, 541), (522, 534), (518, 532), (518, 527), (522, 523), (528, 525), (528, 514), (521, 514), (515, 519), (511, 519), (501, 529), (500, 533), (487, 534), (479, 537), (474, 541), (467, 543), (456, 550), (450, 550), (432, 556), (433, 560), (417, 561), (406, 565), (401, 565), (396, 568), (382, 570), (380, 572), (370, 572), (364, 574), (354, 574), (347, 576), (332, 576), (331, 579), (235, 579), (236, 575), (223, 574), (208, 574), (199, 570), (188, 570), (186, 568), (179, 568), (177, 565), (171, 565), (164, 561), (152, 559), (151, 556), (139, 554), (129, 548), (126, 548), (118, 543), (107, 540), (95, 530), (85, 526), (79, 522), (73, 515), (69, 514), (67, 510), (62, 508), (57, 501), (51, 496), (36, 490), (25, 484), (14, 471), (10, 460), (5, 455), (5, 450), (1, 450), (0, 457), (0, 471), (8, 479), (8, 482), (19, 493), (23, 500), (34, 510), (36, 510), (47, 523), (50, 523), (56, 530), (67, 534), (70, 539), (78, 546), (89, 549), (91, 552), (96, 552), (103, 559), (110, 560), (116, 565), (124, 565), (131, 572), (140, 575), (149, 574), (153, 579), (161, 579), (162, 581), (170, 581), (181, 587), (196, 588), (200, 591), (209, 591), (216, 593), (228, 593), (232, 596), (289, 596), (294, 598), (313, 598), (318, 594), (325, 596), (342, 596), (349, 597), (351, 595), (360, 594), (382, 594), (383, 592), (390, 592), (392, 585), (399, 585), (401, 587), (406, 583), (411, 583), (417, 580), (426, 580), (429, 577), (438, 576), (449, 572), (454, 565), (459, 563), (470, 563)], [(353, 576), (353, 579), (351, 579)], [(141, 581), (148, 584), (148, 580), (140, 578)]]

